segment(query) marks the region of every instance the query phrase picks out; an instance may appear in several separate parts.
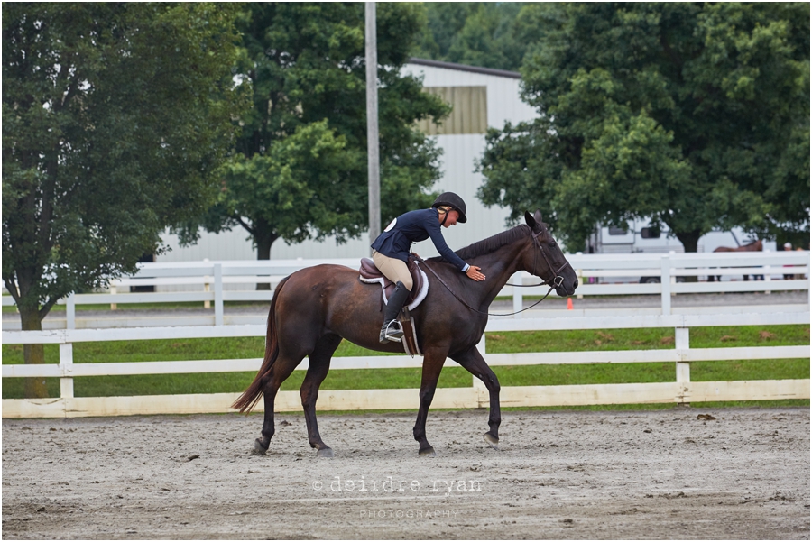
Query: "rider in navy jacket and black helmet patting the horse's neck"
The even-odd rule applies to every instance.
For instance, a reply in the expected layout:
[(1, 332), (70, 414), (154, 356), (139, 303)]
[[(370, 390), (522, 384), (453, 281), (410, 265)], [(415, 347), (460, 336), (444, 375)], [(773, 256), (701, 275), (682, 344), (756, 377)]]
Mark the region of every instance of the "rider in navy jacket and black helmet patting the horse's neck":
[[(454, 192), (440, 194), (428, 209), (410, 211), (398, 216), (386, 226), (383, 233), (372, 243), (373, 261), (387, 279), (395, 283), (383, 313), (383, 327), (379, 340), (381, 343), (399, 340), (403, 336), (395, 318), (403, 308), (409, 296), (412, 281), (406, 262), (409, 261), (411, 243), (424, 241), (431, 237), (438, 253), (451, 262), (459, 271), (466, 273), (471, 280), (484, 280), (480, 268), (468, 265), (457, 256), (446, 244), (440, 226), (450, 227), (457, 222), (465, 223), (466, 202)], [(394, 326), (392, 324), (395, 323)]]

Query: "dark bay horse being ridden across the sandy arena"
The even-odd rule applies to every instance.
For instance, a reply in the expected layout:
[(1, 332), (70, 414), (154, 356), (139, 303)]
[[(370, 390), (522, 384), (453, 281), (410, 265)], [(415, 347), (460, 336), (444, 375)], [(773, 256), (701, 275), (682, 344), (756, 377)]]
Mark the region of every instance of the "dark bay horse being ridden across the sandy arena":
[[(413, 435), (420, 456), (436, 456), (426, 437), (426, 419), (437, 389), (440, 371), (451, 358), (484, 382), (490, 398), (489, 430), (485, 442), (498, 449), (499, 380), (476, 349), (488, 321), (487, 308), (517, 271), (528, 271), (544, 280), (561, 297), (578, 286), (575, 270), (541, 222), (540, 212), (525, 212), (525, 223), (471, 244), (457, 254), (482, 268), (487, 279), (475, 282), (441, 257), (424, 260), (431, 271), (426, 299), (411, 311), (416, 337), (423, 352), (420, 407)], [(549, 293), (549, 292), (548, 292)], [(316, 454), (332, 457), (316, 421), (318, 389), (330, 368), (330, 359), (342, 339), (381, 352), (402, 352), (401, 344), (378, 342), (383, 316), (378, 285), (359, 280), (359, 272), (340, 265), (317, 265), (292, 273), (274, 290), (263, 363), (254, 381), (235, 400), (233, 409), (248, 413), (264, 400), (262, 437), (254, 453), (263, 455), (274, 434), (273, 401), (285, 381), (305, 357), (309, 367), (300, 388), (308, 441)], [(383, 309), (383, 308), (381, 308)]]

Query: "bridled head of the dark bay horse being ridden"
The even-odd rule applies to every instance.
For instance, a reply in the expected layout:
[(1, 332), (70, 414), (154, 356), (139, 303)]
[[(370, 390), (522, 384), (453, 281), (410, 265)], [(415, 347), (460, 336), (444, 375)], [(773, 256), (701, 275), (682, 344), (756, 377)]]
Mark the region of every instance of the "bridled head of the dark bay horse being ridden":
[(532, 249), (525, 251), (522, 262), (524, 269), (555, 287), (562, 298), (571, 296), (578, 287), (578, 277), (561, 252), (561, 247), (549, 234), (547, 225), (541, 222), (541, 212), (537, 210), (535, 215), (525, 212), (524, 221), (533, 232)]

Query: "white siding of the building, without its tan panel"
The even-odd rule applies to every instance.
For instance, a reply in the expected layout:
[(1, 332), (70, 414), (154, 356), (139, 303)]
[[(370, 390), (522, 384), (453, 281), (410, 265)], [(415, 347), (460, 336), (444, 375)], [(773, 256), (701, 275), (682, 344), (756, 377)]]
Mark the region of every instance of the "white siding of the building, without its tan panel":
[[(477, 73), (462, 69), (448, 69), (420, 64), (407, 64), (404, 73), (422, 76), (424, 87), (487, 87), (488, 126), (502, 128), (505, 121), (518, 123), (531, 120), (535, 111), (521, 101), (520, 79), (499, 75)], [(448, 245), (457, 250), (475, 243), (505, 229), (505, 218), (510, 214), (504, 207), (484, 207), (476, 198), (476, 190), (483, 181), (475, 172), (475, 163), (484, 152), (484, 134), (437, 135), (438, 146), (443, 150), (441, 157), (441, 179), (434, 190), (457, 192), (466, 201), (468, 222), (444, 230)], [(393, 216), (382, 216), (382, 225), (388, 224)], [(208, 260), (253, 260), (256, 252), (242, 228), (221, 234), (201, 232), (199, 242), (194, 246), (180, 247), (176, 235), (163, 235), (163, 242), (171, 252), (158, 256), (159, 262), (184, 262)], [(288, 245), (282, 240), (273, 243), (271, 258), (350, 258), (369, 255), (368, 234), (361, 239), (346, 244), (337, 244), (334, 238), (323, 243), (306, 241)], [(437, 255), (430, 241), (415, 244), (416, 253), (422, 257)]]

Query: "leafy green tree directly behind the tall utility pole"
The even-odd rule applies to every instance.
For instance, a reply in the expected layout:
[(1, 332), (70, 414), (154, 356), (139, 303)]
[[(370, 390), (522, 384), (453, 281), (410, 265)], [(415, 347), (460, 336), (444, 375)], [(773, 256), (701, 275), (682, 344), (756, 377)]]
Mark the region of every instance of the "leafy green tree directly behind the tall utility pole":
[[(382, 215), (428, 207), (439, 177), (438, 149), (416, 128), (448, 106), (400, 74), (420, 12), (414, 5), (377, 10)], [(217, 232), (240, 225), (257, 258), (287, 243), (368, 225), (363, 4), (249, 4), (240, 14), (240, 77), (254, 108), (223, 170), (217, 205), (180, 232), (194, 242), (198, 225)]]

